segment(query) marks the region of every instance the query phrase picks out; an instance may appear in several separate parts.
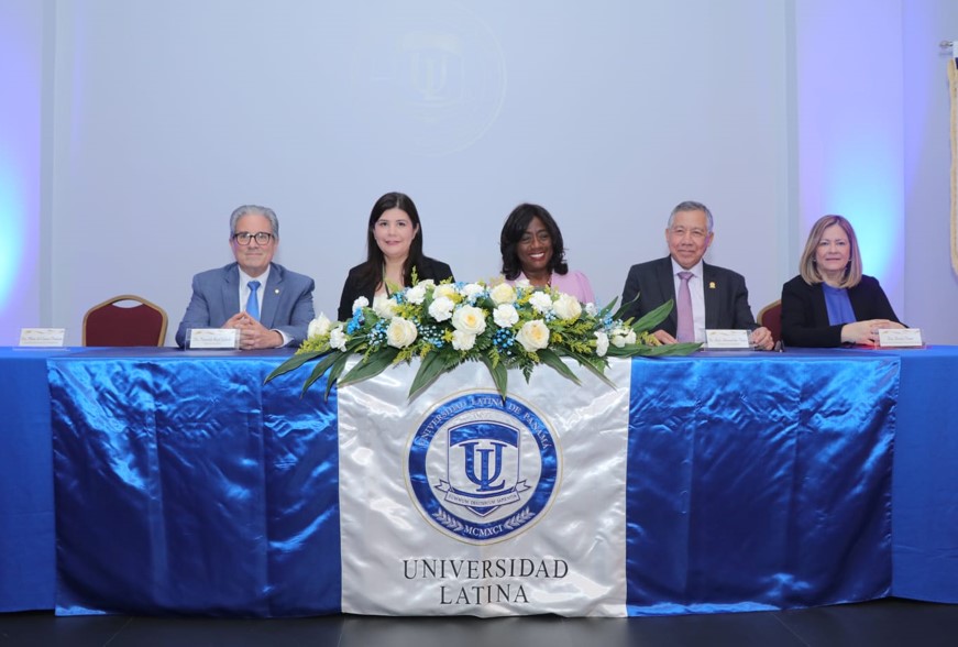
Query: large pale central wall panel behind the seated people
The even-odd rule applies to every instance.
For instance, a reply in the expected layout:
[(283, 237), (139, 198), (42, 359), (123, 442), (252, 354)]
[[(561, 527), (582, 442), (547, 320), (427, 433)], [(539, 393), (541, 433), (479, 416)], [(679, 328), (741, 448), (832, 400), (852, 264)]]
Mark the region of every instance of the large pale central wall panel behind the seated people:
[(778, 296), (782, 250), (759, 241), (788, 218), (781, 3), (58, 7), (53, 322), (73, 343), (129, 292), (175, 328), (243, 202), (276, 209), (277, 260), (332, 314), (387, 190), (466, 279), (497, 274), (516, 204), (544, 205), (603, 301), (698, 199), (711, 261), (746, 274), (756, 310)]

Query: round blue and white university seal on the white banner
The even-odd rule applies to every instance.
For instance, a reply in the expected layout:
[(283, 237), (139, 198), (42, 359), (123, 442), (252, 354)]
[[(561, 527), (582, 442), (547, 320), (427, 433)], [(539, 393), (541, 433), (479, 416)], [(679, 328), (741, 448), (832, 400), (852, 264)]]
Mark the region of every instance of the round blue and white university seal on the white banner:
[(406, 457), (406, 484), (422, 516), (470, 544), (520, 533), (559, 490), (555, 437), (526, 404), (471, 393), (432, 409)]

